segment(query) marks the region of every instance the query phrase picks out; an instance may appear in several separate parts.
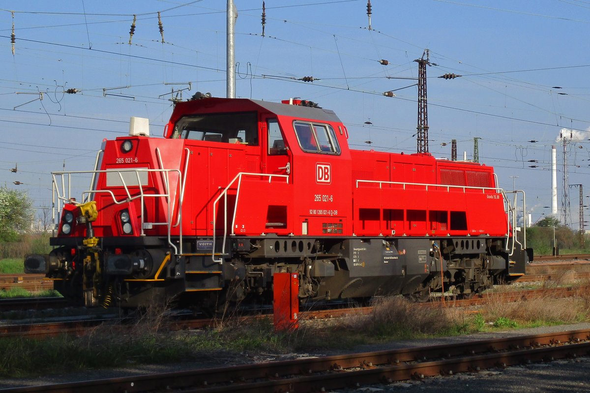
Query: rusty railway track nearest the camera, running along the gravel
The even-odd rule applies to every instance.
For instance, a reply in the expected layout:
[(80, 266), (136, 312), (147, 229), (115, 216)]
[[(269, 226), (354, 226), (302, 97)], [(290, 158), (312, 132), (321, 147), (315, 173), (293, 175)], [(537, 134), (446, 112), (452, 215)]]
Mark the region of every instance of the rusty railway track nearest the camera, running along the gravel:
[(301, 392), (391, 384), (590, 353), (590, 330), (12, 389), (14, 392)]

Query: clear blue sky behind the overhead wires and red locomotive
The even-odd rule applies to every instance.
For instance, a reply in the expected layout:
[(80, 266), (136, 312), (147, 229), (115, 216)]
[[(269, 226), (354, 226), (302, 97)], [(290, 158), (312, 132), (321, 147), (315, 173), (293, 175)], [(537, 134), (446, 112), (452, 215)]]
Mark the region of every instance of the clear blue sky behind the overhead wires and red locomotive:
[[(457, 139), (471, 158), (480, 137), (480, 161), (503, 188), (526, 191), (537, 220), (550, 213), (552, 145), (561, 203), (558, 137), (568, 129), (568, 182), (590, 195), (590, 0), (372, 0), (372, 30), (366, 0), (266, 0), (264, 37), (262, 1), (234, 1), (238, 97), (316, 101), (348, 126), (354, 148), (412, 153), (417, 87), (407, 78), (428, 48), (437, 64), (427, 70), (433, 155), (450, 157)], [(91, 169), (101, 140), (126, 135), (130, 116), (149, 117), (152, 135), (162, 135), (172, 89), (191, 82), (184, 99), (225, 96), (225, 4), (0, 1), (0, 184), (50, 205), (49, 173)], [(463, 77), (437, 78), (446, 73)], [(297, 81), (304, 76), (319, 80)], [(571, 190), (575, 228), (578, 195)]]

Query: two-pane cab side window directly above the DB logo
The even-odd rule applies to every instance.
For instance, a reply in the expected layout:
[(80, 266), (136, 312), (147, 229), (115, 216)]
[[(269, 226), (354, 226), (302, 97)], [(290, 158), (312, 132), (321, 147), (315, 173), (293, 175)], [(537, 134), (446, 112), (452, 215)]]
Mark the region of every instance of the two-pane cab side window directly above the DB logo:
[(294, 122), (293, 127), (299, 146), (305, 152), (340, 154), (336, 133), (330, 125), (308, 122)]

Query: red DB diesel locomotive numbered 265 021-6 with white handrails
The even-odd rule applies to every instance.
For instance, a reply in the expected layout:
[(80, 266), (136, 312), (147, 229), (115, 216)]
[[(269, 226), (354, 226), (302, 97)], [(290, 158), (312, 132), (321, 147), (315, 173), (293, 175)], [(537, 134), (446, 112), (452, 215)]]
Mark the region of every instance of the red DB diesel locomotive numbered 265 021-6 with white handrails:
[(493, 168), (350, 149), (336, 114), (306, 101), (178, 103), (163, 139), (132, 118), (93, 171), (53, 177), (54, 249), (25, 271), (86, 306), (270, 303), (277, 272), (314, 302), (468, 296), (532, 260)]

